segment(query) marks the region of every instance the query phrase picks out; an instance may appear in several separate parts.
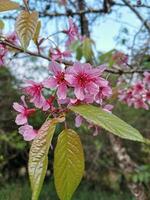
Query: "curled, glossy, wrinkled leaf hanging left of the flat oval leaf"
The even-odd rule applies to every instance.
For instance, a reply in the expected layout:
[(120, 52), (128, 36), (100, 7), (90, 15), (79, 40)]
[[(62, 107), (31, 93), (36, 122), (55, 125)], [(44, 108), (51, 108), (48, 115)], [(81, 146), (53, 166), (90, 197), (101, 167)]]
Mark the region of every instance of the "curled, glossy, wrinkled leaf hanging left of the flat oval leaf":
[(56, 124), (64, 118), (46, 121), (31, 145), (28, 171), (32, 189), (32, 200), (38, 200), (48, 165), (48, 151)]

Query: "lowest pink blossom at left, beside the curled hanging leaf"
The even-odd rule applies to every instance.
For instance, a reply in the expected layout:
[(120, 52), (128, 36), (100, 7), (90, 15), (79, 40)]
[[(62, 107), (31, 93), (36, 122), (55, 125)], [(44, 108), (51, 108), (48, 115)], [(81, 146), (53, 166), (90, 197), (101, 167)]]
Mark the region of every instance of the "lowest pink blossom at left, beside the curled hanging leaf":
[(26, 124), (19, 128), (19, 133), (23, 136), (24, 140), (31, 141), (37, 136), (37, 131), (32, 126)]

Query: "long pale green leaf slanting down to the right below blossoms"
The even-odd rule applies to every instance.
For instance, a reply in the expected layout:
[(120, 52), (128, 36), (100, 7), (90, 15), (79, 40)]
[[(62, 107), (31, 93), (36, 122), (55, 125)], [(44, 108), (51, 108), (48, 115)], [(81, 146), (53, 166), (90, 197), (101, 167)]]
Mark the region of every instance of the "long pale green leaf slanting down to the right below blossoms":
[(83, 116), (86, 120), (106, 129), (124, 139), (144, 142), (138, 130), (118, 118), (117, 116), (92, 105), (71, 106), (70, 110)]

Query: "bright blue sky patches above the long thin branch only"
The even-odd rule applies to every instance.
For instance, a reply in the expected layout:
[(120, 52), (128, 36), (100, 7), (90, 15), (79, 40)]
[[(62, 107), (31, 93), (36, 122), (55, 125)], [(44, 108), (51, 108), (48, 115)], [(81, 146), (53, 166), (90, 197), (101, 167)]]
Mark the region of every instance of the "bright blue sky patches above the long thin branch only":
[[(20, 1), (16, 0), (16, 2)], [(121, 1), (118, 0), (116, 2)], [(131, 2), (135, 3), (136, 0), (131, 0)], [(89, 0), (88, 3), (94, 5), (93, 0)], [(96, 20), (96, 22), (94, 23), (91, 35), (94, 41), (96, 41), (96, 47), (99, 51), (109, 51), (116, 47), (123, 49), (123, 47), (115, 41), (115, 37), (118, 35), (119, 31), (121, 31), (123, 27), (128, 28), (130, 35), (129, 39), (132, 39), (133, 34), (135, 33), (135, 31), (138, 31), (141, 25), (141, 22), (137, 19), (135, 14), (132, 13), (128, 8), (120, 8), (119, 10), (117, 9), (118, 8), (115, 7), (114, 10), (117, 12), (113, 12), (110, 15), (105, 15), (104, 17), (98, 18), (98, 20)], [(141, 15), (143, 15), (143, 17), (146, 17), (146, 14), (143, 12), (142, 9), (140, 13)], [(1, 14), (0, 16), (2, 15), (3, 14)], [(66, 19), (65, 21), (67, 23)], [(54, 19), (45, 24), (45, 22), (43, 21), (43, 30), (45, 32), (44, 35), (47, 34), (47, 31), (49, 34), (56, 32), (56, 25), (60, 30), (63, 29), (64, 26), (66, 26), (66, 24), (63, 22), (63, 20), (59, 20), (59, 22), (56, 22), (56, 20)], [(10, 29), (12, 30), (12, 24), (10, 25), (6, 22), (6, 32), (9, 32)]]

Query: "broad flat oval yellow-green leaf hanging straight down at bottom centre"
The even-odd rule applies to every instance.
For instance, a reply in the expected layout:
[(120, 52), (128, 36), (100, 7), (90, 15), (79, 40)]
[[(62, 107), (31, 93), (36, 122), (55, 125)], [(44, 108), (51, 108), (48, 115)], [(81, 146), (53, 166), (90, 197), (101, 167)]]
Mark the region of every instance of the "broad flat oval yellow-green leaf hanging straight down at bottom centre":
[(84, 153), (78, 134), (65, 129), (54, 154), (54, 180), (60, 200), (70, 200), (84, 174)]

